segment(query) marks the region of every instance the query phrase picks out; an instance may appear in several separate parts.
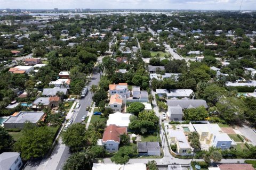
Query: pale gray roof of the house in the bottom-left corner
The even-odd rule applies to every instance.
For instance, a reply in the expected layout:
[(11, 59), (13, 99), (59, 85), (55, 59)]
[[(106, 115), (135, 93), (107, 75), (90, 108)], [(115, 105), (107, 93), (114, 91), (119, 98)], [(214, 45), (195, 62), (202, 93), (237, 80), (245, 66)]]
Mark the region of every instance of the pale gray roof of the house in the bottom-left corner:
[(0, 170), (10, 169), (19, 156), (18, 152), (3, 152), (0, 154)]

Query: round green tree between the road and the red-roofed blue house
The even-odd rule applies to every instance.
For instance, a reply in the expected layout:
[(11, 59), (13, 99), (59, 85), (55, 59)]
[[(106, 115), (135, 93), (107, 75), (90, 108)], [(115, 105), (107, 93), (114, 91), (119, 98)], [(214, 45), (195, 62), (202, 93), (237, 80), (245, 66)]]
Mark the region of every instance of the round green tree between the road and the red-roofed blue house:
[(82, 123), (71, 124), (66, 131), (62, 132), (61, 137), (71, 152), (82, 150), (87, 146), (87, 133)]

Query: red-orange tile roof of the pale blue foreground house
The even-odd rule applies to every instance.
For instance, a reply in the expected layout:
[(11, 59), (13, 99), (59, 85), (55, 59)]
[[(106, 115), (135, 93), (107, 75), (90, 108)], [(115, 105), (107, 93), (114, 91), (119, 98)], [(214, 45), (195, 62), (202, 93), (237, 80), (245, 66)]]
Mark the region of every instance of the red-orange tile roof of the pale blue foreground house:
[(127, 134), (126, 127), (121, 128), (115, 124), (111, 124), (105, 128), (102, 141), (114, 140), (115, 142), (120, 142), (120, 135), (124, 133)]

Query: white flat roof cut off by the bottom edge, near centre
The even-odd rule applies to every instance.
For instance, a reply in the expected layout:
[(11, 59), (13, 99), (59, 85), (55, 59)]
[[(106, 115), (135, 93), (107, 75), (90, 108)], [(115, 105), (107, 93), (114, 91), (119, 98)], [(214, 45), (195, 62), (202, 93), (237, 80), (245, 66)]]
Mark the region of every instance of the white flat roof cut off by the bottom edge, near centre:
[(146, 164), (96, 164), (93, 163), (92, 170), (146, 170)]

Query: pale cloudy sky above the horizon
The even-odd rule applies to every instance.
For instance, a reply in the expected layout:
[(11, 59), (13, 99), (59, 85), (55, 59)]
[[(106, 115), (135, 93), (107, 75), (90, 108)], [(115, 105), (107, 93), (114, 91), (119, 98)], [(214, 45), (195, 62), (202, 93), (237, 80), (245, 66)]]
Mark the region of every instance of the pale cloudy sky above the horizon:
[(256, 0), (0, 0), (0, 8), (256, 10)]

